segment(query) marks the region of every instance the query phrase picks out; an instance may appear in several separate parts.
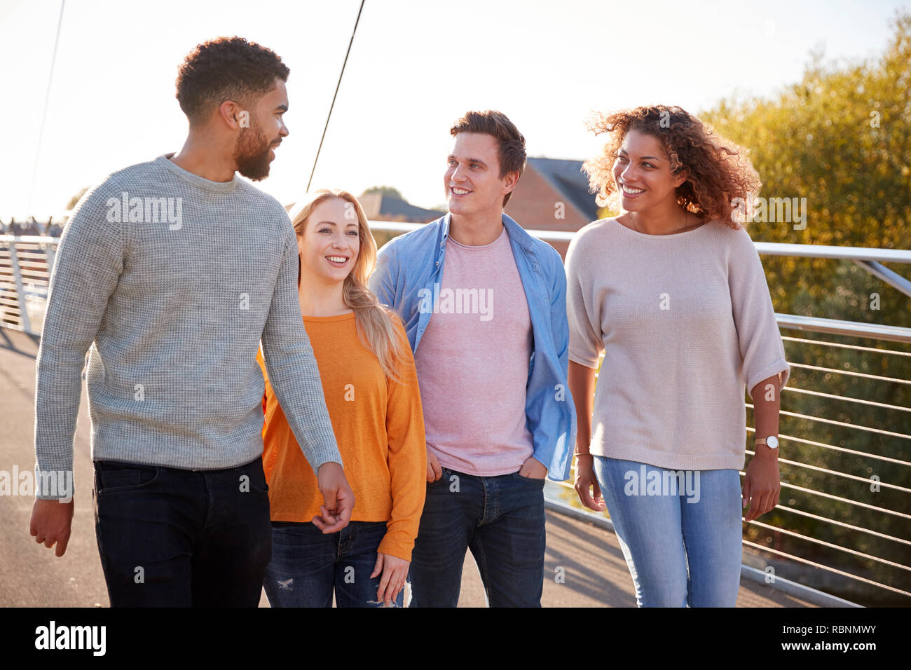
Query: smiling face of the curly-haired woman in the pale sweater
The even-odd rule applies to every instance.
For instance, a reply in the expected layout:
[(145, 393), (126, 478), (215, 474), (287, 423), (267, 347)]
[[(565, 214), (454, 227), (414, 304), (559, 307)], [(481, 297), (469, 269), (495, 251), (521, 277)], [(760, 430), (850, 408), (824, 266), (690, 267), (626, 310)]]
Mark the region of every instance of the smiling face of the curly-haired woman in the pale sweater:
[(670, 158), (658, 138), (630, 130), (614, 160), (614, 181), (625, 211), (646, 211), (676, 202), (676, 189), (686, 180), (686, 170), (670, 170)]

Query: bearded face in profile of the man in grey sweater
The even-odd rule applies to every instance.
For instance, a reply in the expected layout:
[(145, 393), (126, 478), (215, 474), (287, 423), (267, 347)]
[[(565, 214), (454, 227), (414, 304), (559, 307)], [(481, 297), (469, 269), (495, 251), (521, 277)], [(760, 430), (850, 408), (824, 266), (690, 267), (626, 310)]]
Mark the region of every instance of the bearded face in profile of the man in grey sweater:
[(276, 77), (275, 87), (258, 99), (250, 111), (250, 127), (241, 128), (234, 145), (237, 170), (246, 178), (259, 181), (269, 176), (275, 149), (288, 136), (282, 116), (288, 110), (288, 92)]

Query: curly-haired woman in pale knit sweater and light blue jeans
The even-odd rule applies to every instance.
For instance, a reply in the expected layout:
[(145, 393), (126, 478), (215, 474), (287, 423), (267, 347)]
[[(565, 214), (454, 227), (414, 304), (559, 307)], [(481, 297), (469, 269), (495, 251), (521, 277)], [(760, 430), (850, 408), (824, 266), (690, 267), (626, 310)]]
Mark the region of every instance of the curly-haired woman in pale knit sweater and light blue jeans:
[[(608, 141), (584, 170), (622, 213), (580, 230), (566, 260), (576, 490), (609, 510), (640, 607), (732, 607), (742, 515), (778, 503), (790, 375), (732, 204), (752, 202), (759, 178), (744, 149), (681, 108), (599, 115), (590, 129)], [(757, 439), (741, 489), (744, 385)]]

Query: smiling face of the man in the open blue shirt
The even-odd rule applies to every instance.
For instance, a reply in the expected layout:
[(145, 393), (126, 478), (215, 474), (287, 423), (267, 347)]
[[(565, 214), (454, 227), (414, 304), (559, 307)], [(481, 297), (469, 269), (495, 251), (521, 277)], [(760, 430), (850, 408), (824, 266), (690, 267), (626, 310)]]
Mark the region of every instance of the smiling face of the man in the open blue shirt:
[(458, 216), (499, 217), (503, 196), (516, 186), (518, 174), (500, 177), (499, 146), (486, 133), (455, 136), (443, 182), (449, 211)]

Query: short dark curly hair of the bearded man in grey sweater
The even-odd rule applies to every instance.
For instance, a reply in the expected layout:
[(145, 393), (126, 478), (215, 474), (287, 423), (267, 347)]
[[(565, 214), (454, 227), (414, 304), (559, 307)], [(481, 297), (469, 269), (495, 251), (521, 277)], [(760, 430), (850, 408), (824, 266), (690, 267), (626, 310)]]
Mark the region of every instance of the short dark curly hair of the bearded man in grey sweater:
[(243, 37), (217, 37), (187, 54), (177, 73), (177, 99), (190, 123), (225, 100), (250, 103), (288, 80), (291, 72), (274, 51)]

